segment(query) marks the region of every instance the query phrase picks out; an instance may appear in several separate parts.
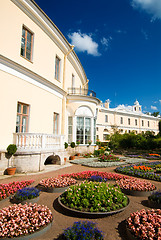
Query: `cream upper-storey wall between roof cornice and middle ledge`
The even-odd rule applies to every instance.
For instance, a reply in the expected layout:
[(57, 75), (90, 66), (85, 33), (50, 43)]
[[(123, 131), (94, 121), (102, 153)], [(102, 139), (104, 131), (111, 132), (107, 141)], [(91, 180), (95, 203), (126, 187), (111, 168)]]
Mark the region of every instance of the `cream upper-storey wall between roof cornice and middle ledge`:
[[(5, 33), (1, 34), (1, 54), (61, 87), (64, 54), (48, 35), (9, 0), (2, 1), (0, 8), (0, 25), (1, 32)], [(23, 25), (34, 33), (32, 63), (20, 56)], [(61, 83), (54, 78), (56, 55), (61, 59)]]

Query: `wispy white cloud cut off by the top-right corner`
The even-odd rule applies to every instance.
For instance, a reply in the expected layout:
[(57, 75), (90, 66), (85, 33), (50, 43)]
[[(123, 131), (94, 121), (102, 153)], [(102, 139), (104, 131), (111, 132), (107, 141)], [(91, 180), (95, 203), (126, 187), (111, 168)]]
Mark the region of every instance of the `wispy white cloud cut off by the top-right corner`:
[(132, 6), (153, 15), (153, 20), (161, 19), (161, 0), (132, 0)]

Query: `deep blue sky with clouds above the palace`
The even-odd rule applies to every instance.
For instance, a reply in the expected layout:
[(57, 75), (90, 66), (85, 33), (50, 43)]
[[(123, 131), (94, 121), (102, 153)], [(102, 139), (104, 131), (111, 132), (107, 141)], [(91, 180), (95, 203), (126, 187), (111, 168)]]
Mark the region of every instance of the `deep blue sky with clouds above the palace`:
[(161, 113), (161, 0), (36, 3), (75, 45), (99, 99)]

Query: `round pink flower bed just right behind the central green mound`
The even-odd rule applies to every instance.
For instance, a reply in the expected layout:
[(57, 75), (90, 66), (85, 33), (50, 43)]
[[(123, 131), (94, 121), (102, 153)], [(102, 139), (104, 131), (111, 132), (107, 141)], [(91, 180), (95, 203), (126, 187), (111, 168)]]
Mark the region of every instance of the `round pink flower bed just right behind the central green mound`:
[(120, 179), (116, 183), (124, 193), (136, 196), (148, 196), (156, 189), (151, 182), (136, 178)]

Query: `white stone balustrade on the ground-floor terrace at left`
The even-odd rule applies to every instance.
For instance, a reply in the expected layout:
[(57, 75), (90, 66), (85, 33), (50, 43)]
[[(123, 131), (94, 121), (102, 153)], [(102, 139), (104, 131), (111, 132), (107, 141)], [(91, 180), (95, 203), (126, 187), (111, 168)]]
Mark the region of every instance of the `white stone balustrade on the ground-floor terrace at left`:
[(18, 151), (64, 149), (64, 136), (44, 133), (14, 133)]

